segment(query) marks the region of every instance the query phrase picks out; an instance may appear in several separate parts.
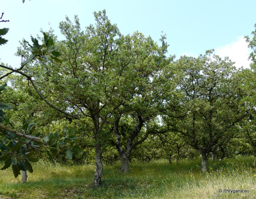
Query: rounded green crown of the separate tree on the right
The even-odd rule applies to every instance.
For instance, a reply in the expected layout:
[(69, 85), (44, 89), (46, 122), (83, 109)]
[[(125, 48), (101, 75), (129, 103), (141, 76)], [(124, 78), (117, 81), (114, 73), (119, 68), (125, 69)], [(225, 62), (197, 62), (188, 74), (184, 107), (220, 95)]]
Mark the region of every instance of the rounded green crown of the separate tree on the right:
[(201, 154), (215, 152), (214, 146), (229, 142), (239, 131), (235, 124), (247, 116), (238, 71), (233, 62), (212, 53), (183, 56), (176, 62), (183, 75), (167, 98), (168, 111), (163, 115), (167, 126)]

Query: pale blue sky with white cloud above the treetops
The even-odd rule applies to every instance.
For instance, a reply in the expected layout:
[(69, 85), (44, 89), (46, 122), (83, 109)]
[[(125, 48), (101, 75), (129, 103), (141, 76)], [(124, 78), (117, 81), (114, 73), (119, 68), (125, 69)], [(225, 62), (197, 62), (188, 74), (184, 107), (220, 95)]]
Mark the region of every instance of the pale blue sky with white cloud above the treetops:
[[(14, 56), (19, 40), (47, 31), (50, 26), (60, 35), (58, 24), (65, 16), (80, 18), (81, 27), (94, 24), (94, 11), (106, 9), (112, 23), (122, 34), (138, 30), (158, 41), (167, 34), (169, 54), (198, 56), (215, 49), (221, 57), (229, 56), (237, 67), (248, 67), (249, 49), (243, 39), (251, 35), (256, 23), (255, 0), (1, 0), (1, 11), (10, 28), (7, 45), (0, 47), (1, 62), (19, 67)], [(50, 24), (50, 25), (49, 25)]]

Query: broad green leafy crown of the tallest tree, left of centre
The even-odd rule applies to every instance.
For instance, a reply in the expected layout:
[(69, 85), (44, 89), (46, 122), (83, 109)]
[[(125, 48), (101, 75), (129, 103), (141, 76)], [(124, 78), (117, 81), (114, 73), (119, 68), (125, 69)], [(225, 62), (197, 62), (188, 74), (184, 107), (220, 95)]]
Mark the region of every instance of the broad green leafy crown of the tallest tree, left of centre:
[[(142, 33), (123, 36), (117, 25), (110, 23), (105, 11), (95, 12), (94, 17), (96, 25), (90, 25), (84, 31), (81, 30), (77, 16), (74, 22), (66, 17), (60, 23), (65, 40), (54, 41), (61, 55), (54, 51), (52, 53), (60, 55), (62, 63), (53, 62), (54, 58), (49, 56), (47, 60), (38, 59), (38, 62), (24, 68), (24, 71), (33, 74), (38, 90), (45, 96), (50, 96), (49, 102), (54, 107), (68, 110), (77, 121), (85, 117), (91, 119), (95, 138), (93, 144), (98, 145), (96, 154), (101, 157), (101, 147), (106, 146), (107, 141), (112, 138), (110, 121), (122, 106), (129, 106), (131, 114), (143, 112), (145, 119), (157, 115), (159, 100), (156, 94), (153, 97), (152, 92), (159, 84), (157, 76), (172, 58), (165, 56), (167, 44), (164, 37), (163, 45), (159, 47), (151, 37), (145, 37)], [(42, 38), (45, 47), (48, 45), (46, 39), (48, 38)], [(34, 38), (32, 42), (33, 45), (23, 43), (23, 49), (18, 54), (25, 54), (27, 57), (30, 46), (32, 57), (28, 60), (33, 59), (36, 53), (40, 53), (38, 49), (41, 46)], [(40, 57), (44, 54), (40, 54)], [(152, 104), (154, 107), (151, 107)], [(133, 108), (136, 110), (132, 111)], [(44, 114), (52, 113), (51, 110), (42, 111)], [(64, 117), (59, 113), (55, 114), (57, 120)], [(91, 132), (86, 132), (87, 136), (90, 134)], [(71, 146), (70, 150), (72, 151)], [(74, 150), (74, 153), (80, 152), (79, 148)], [(68, 158), (72, 157), (69, 149), (65, 149), (65, 154)]]

